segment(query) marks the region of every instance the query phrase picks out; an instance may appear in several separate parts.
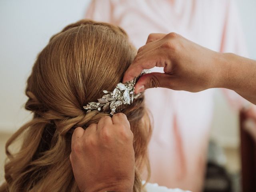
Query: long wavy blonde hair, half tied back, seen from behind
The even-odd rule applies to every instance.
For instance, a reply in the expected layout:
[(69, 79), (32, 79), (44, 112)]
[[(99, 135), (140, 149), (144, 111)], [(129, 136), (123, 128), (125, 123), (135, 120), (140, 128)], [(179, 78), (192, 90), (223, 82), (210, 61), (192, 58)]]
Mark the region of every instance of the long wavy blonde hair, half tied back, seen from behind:
[[(33, 119), (6, 143), (6, 182), (0, 192), (78, 192), (69, 159), (74, 128), (84, 129), (108, 113), (83, 106), (102, 97), (102, 90), (114, 90), (136, 51), (126, 32), (118, 26), (80, 20), (50, 38), (40, 52), (27, 80), (26, 110)], [(136, 172), (134, 192), (142, 190), (140, 172), (147, 165), (151, 135), (143, 94), (122, 111), (134, 134)], [(9, 146), (23, 135), (20, 150)]]

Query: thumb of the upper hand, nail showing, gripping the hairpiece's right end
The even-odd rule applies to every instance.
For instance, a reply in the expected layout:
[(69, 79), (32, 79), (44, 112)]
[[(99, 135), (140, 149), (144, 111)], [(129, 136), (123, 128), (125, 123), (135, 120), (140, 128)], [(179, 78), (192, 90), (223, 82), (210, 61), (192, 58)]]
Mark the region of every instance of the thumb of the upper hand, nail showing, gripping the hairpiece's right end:
[(171, 76), (165, 73), (148, 73), (142, 75), (135, 85), (135, 94), (148, 88), (164, 87), (171, 88)]

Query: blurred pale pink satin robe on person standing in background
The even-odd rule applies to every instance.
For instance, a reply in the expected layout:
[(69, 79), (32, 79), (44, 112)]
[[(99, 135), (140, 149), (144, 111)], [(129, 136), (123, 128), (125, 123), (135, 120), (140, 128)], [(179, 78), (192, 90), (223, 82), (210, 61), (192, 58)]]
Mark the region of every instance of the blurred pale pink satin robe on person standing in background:
[[(150, 33), (176, 32), (212, 50), (247, 55), (232, 0), (93, 0), (86, 18), (121, 26), (136, 48), (146, 43)], [(162, 68), (152, 71), (163, 72)], [(202, 190), (214, 91), (146, 90), (146, 104), (154, 118), (150, 182)], [(223, 91), (240, 108), (240, 96)]]

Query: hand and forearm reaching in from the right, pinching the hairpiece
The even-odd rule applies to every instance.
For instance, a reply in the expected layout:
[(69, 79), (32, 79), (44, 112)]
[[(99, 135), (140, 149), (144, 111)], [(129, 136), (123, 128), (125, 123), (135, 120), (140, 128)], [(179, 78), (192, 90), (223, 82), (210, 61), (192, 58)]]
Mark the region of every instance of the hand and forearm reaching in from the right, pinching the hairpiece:
[(164, 73), (142, 76), (135, 85), (135, 93), (154, 87), (189, 92), (228, 88), (256, 104), (254, 60), (214, 52), (176, 33), (150, 34), (124, 74), (123, 82), (154, 66), (163, 67)]

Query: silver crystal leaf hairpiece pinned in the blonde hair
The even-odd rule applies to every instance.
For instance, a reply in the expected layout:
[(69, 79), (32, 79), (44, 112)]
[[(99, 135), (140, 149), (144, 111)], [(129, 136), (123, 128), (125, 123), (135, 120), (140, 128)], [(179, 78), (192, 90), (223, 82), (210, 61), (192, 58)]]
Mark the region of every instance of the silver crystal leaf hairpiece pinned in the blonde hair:
[(140, 93), (134, 93), (134, 86), (140, 78), (140, 76), (150, 73), (150, 70), (143, 70), (141, 74), (135, 77), (133, 80), (126, 82), (125, 84), (118, 83), (114, 91), (109, 92), (103, 90), (106, 95), (98, 99), (98, 102), (89, 102), (86, 106), (83, 106), (87, 110), (87, 114), (92, 110), (97, 109), (98, 111), (111, 111), (110, 115), (116, 113), (116, 108), (122, 104), (132, 104), (133, 100), (140, 96)]

